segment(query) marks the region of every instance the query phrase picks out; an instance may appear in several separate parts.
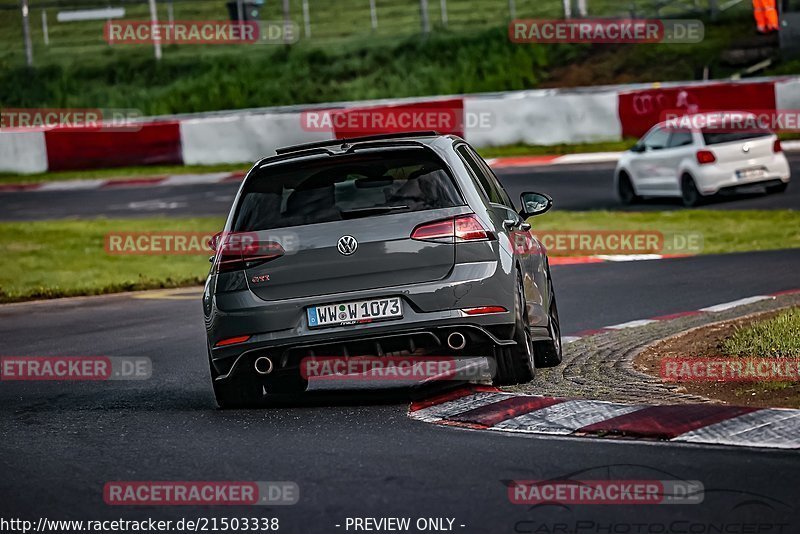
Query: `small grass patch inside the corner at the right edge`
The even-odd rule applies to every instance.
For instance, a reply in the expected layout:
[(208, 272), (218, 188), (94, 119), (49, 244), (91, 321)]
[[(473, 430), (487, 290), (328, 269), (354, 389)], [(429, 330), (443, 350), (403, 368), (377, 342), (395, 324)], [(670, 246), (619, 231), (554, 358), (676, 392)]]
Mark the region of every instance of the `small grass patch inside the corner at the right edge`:
[(722, 343), (722, 350), (731, 356), (749, 358), (800, 357), (800, 308), (738, 328)]

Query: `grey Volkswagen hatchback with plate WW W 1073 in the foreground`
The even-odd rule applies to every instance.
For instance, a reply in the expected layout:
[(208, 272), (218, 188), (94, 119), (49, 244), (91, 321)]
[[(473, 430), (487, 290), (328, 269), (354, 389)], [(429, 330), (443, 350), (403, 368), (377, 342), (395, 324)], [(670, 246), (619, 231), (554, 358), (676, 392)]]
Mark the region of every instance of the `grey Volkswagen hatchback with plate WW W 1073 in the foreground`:
[(279, 149), (247, 173), (203, 294), (221, 407), (308, 386), (303, 358), (490, 358), (495, 384), (561, 362), (544, 247), (463, 139), (435, 132)]

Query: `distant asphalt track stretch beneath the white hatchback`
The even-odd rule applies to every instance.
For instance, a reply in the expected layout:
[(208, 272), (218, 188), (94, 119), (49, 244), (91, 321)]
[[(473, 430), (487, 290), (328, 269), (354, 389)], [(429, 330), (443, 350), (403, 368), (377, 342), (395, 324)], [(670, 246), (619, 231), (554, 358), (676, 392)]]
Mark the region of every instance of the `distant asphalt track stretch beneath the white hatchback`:
[[(800, 154), (789, 154), (792, 172), (800, 177)], [(550, 165), (501, 169), (497, 174), (513, 199), (523, 191), (547, 193), (555, 209), (622, 209), (613, 191), (613, 164)], [(800, 178), (798, 178), (800, 179)], [(0, 221), (33, 221), (82, 217), (146, 217), (151, 215), (227, 215), (238, 183), (164, 187), (120, 187), (83, 191), (0, 193)], [(708, 209), (797, 209), (800, 185), (783, 194), (755, 191), (726, 195)], [(648, 200), (626, 208), (634, 211), (683, 209), (679, 199)]]

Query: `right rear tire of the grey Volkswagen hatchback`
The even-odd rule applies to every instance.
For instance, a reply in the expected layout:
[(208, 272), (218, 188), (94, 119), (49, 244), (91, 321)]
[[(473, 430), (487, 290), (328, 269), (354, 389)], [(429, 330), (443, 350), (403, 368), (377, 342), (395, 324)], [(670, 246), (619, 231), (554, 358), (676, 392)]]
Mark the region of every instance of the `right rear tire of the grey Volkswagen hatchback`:
[(525, 384), (533, 380), (536, 374), (536, 367), (533, 363), (530, 321), (528, 319), (528, 308), (525, 306), (522, 282), (519, 281), (517, 286), (517, 318), (514, 326), (514, 341), (517, 344), (510, 347), (495, 347), (494, 359), (497, 363), (497, 369), (492, 380), (495, 386)]

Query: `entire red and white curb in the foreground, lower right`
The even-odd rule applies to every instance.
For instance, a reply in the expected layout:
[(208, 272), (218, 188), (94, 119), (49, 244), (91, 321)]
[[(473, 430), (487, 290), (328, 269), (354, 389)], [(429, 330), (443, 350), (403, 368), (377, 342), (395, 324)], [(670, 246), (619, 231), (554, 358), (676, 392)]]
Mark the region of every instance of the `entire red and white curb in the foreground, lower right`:
[(647, 406), (498, 393), (481, 386), (465, 387), (460, 395), (422, 409), (433, 399), (414, 403), (408, 415), (444, 426), (496, 432), (800, 449), (800, 410), (722, 404)]

